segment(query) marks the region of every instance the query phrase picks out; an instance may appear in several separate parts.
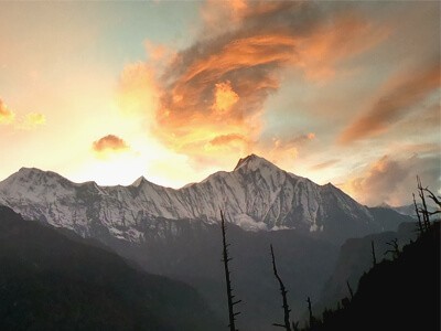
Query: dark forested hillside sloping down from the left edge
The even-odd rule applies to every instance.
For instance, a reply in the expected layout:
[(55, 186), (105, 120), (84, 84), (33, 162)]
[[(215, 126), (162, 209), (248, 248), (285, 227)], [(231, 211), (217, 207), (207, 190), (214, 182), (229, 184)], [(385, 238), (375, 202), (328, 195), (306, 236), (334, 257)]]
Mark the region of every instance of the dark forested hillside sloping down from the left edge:
[(191, 287), (0, 206), (0, 330), (220, 330)]

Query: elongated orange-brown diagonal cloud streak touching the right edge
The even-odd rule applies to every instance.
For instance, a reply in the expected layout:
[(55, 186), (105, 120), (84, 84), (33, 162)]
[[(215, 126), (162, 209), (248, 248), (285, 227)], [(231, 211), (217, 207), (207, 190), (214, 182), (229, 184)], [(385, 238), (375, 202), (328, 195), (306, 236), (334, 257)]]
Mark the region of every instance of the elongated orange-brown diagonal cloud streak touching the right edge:
[(440, 63), (392, 77), (372, 108), (353, 121), (338, 137), (341, 143), (375, 137), (389, 130), (412, 107), (440, 87)]

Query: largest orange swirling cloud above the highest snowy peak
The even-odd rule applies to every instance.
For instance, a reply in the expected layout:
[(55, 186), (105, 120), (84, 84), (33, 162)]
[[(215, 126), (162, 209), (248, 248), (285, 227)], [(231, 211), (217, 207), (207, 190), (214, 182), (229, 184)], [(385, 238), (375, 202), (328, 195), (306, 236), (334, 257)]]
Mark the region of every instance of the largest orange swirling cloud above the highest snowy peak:
[[(168, 148), (193, 159), (215, 159), (220, 146), (232, 158), (261, 150), (268, 146), (260, 137), (265, 104), (287, 70), (300, 70), (312, 81), (330, 79), (340, 61), (373, 47), (385, 35), (352, 10), (322, 10), (312, 2), (208, 1), (202, 14), (196, 42), (173, 56), (147, 43), (150, 62), (126, 70), (122, 84), (130, 100), (153, 92), (158, 104), (149, 120), (151, 131)], [(161, 65), (155, 66), (158, 61)], [(147, 116), (150, 109), (146, 107)], [(216, 137), (238, 136), (244, 139), (216, 143)], [(292, 150), (299, 143), (282, 142)]]

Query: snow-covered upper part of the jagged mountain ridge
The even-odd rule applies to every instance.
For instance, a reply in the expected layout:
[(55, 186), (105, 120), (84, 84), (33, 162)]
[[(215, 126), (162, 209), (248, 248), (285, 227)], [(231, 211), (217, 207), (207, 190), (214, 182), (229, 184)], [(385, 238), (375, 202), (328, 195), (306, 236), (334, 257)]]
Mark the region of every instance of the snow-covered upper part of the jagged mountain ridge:
[(216, 223), (220, 210), (248, 231), (325, 232), (334, 226), (329, 220), (336, 211), (363, 226), (373, 222), (366, 207), (336, 188), (318, 185), (256, 154), (240, 159), (234, 171), (214, 173), (179, 190), (143, 177), (128, 186), (99, 186), (76, 184), (54, 172), (23, 170), (0, 182), (0, 203), (26, 218), (84, 236), (100, 224), (112, 236), (133, 242), (143, 237), (146, 228), (159, 226), (159, 220), (171, 222), (160, 231), (173, 232), (180, 220)]

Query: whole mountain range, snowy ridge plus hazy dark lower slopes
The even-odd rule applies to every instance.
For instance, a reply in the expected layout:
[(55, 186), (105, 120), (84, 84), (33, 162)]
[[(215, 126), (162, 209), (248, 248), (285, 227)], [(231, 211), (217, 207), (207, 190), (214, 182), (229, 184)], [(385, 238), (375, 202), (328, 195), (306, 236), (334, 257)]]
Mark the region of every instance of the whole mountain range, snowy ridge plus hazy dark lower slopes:
[(364, 206), (331, 183), (315, 184), (255, 154), (230, 172), (179, 190), (144, 178), (128, 186), (79, 184), (22, 168), (0, 182), (0, 204), (25, 220), (95, 238), (148, 273), (191, 285), (225, 320), (218, 224), (224, 211), (233, 284), (245, 302), (238, 327), (255, 331), (271, 330), (281, 318), (270, 244), (298, 319), (308, 296), (319, 300), (347, 238), (396, 231), (413, 221), (389, 209)]

